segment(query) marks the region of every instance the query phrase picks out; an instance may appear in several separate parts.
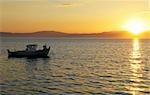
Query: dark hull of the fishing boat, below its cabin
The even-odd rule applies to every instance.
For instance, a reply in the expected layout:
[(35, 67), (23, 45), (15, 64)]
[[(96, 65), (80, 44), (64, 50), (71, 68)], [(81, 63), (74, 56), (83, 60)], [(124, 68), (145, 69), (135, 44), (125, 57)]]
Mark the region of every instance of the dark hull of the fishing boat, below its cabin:
[(37, 51), (15, 51), (11, 52), (8, 50), (8, 57), (16, 57), (16, 58), (48, 58), (48, 53), (50, 48), (44, 50), (37, 50)]

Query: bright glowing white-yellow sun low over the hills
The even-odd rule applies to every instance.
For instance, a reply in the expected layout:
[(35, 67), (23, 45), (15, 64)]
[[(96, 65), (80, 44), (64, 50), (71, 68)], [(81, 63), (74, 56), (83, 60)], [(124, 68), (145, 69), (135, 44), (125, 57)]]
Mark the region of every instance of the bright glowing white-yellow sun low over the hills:
[(146, 22), (141, 19), (131, 19), (123, 25), (123, 28), (133, 35), (140, 35), (142, 32), (148, 30)]

